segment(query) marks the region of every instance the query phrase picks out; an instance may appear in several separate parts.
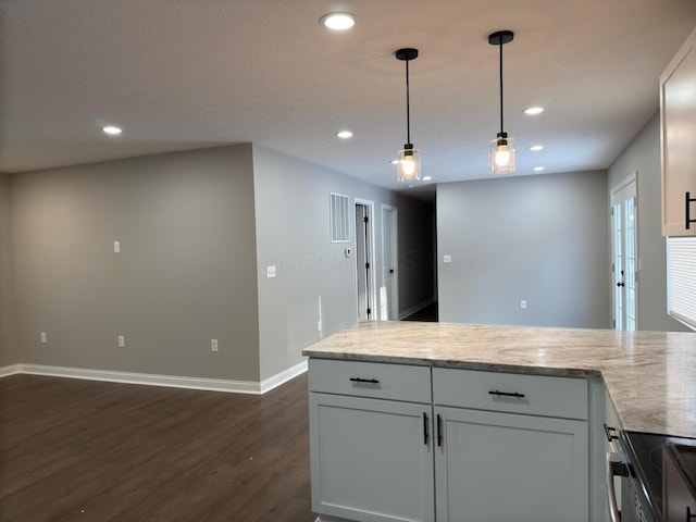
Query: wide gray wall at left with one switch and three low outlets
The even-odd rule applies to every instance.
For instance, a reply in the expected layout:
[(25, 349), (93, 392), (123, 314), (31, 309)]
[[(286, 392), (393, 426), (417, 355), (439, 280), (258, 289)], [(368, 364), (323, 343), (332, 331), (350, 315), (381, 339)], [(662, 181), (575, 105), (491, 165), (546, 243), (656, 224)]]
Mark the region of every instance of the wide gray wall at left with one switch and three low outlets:
[(12, 198), (21, 362), (258, 381), (250, 145), (16, 174)]

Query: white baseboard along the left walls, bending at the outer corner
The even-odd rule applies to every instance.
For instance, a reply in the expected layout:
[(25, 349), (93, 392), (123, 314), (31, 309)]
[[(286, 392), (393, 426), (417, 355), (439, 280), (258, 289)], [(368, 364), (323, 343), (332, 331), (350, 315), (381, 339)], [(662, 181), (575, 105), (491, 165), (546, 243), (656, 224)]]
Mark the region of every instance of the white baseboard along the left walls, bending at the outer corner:
[(233, 394), (263, 395), (283, 383), (304, 373), (307, 361), (302, 361), (262, 382), (229, 381), (224, 378), (181, 377), (174, 375), (156, 375), (150, 373), (113, 372), (84, 368), (49, 366), (44, 364), (13, 364), (0, 368), (0, 377), (26, 373), (30, 375), (48, 375), (53, 377), (85, 378), (110, 383), (141, 384), (147, 386), (170, 386), (173, 388), (207, 389)]

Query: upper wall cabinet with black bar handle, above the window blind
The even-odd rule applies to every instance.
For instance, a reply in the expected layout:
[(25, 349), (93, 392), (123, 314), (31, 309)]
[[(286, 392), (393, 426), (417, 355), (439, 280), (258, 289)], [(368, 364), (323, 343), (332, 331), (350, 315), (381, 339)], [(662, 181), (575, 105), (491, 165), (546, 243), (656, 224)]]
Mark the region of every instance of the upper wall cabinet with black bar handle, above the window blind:
[(696, 29), (660, 76), (662, 235), (696, 236)]

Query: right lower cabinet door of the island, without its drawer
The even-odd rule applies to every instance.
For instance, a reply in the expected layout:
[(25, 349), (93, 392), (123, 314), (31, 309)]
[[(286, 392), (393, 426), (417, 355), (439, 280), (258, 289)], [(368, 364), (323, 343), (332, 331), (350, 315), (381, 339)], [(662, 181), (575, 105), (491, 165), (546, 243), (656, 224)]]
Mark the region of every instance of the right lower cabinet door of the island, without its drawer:
[(438, 522), (587, 522), (586, 422), (455, 408), (435, 413)]

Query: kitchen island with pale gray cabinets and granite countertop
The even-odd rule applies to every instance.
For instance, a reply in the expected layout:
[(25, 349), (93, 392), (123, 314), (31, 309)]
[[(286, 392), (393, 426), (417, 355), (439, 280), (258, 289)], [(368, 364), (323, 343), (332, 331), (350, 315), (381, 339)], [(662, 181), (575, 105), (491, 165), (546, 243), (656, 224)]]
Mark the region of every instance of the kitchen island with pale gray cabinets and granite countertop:
[(303, 355), (322, 521), (605, 520), (605, 409), (696, 437), (696, 334), (375, 322)]

